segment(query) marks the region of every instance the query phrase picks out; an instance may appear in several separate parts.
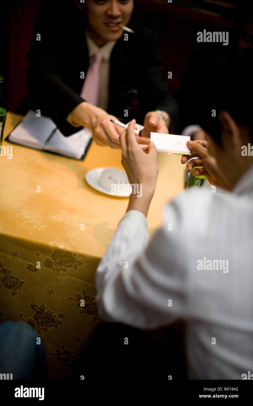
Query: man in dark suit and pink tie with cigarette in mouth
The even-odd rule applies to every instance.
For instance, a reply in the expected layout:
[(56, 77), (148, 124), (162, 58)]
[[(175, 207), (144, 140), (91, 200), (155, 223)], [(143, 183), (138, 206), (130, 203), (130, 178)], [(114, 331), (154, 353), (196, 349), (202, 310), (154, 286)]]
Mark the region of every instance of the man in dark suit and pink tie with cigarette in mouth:
[[(28, 54), (30, 106), (65, 136), (88, 127), (97, 144), (119, 148), (123, 130), (110, 122), (115, 116), (143, 122), (139, 143), (148, 143), (151, 131), (173, 132), (178, 108), (162, 76), (158, 37), (130, 22), (133, 6), (133, 0), (65, 0), (45, 5), (37, 17)], [(97, 51), (103, 58), (94, 103)]]

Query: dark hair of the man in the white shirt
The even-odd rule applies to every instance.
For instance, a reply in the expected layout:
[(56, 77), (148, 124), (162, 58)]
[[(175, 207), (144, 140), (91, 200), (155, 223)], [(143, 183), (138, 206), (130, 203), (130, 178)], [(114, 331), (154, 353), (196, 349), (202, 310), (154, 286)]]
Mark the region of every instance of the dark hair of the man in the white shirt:
[(218, 145), (222, 145), (218, 119), (221, 110), (229, 112), (236, 123), (247, 126), (253, 142), (252, 71), (253, 52), (239, 50), (218, 63), (213, 77), (207, 79), (208, 89), (199, 98), (199, 124)]

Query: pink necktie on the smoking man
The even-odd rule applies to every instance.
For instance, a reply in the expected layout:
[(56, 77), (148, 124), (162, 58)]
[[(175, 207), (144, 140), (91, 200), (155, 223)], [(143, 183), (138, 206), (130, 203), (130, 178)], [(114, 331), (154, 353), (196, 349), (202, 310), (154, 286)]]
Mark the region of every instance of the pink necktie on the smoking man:
[(94, 60), (91, 65), (89, 65), (88, 71), (86, 73), (86, 78), (82, 86), (82, 91), (80, 96), (93, 106), (97, 106), (99, 102), (99, 81), (100, 81), (100, 65), (103, 59), (103, 55), (97, 51), (94, 54)]

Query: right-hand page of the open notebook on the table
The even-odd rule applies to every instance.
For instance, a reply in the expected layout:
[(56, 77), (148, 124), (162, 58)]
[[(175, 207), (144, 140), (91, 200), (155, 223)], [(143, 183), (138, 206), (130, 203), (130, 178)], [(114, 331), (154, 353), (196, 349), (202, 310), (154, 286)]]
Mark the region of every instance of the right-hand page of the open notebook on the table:
[[(69, 158), (82, 158), (82, 152), (85, 151), (91, 139), (91, 130), (82, 128), (75, 134), (65, 137), (57, 128), (52, 137), (45, 145), (45, 151), (57, 152)], [(83, 150), (83, 151), (82, 151)]]

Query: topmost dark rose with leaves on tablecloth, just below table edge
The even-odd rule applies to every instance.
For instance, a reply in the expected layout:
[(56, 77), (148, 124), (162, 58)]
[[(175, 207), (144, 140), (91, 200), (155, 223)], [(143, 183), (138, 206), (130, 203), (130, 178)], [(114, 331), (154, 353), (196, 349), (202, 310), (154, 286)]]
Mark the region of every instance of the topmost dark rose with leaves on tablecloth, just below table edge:
[[(84, 265), (80, 258), (84, 259), (82, 256), (77, 255), (76, 253), (70, 253), (68, 251), (54, 249), (53, 253), (49, 257), (41, 259), (39, 252), (36, 253), (38, 261), (41, 263), (41, 266), (52, 270), (54, 274), (60, 275), (60, 272), (66, 272), (68, 269), (77, 270), (78, 266)], [(28, 272), (38, 273), (40, 266), (38, 261), (35, 264), (27, 263), (26, 269)]]

